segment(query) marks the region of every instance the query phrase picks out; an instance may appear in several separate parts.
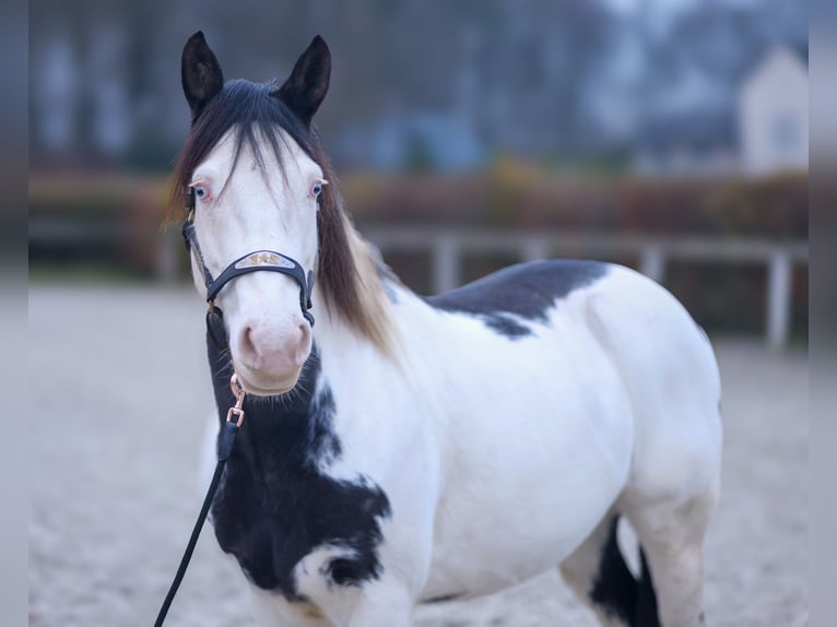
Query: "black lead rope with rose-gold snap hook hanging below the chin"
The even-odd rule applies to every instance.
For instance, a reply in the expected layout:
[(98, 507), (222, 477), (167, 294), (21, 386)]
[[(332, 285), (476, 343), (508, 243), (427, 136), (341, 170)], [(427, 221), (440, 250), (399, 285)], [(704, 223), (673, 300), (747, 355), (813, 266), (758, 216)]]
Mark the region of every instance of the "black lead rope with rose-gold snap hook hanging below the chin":
[(180, 588), (180, 582), (184, 580), (186, 569), (189, 567), (189, 561), (192, 558), (194, 545), (198, 543), (198, 537), (201, 534), (201, 529), (203, 528), (203, 523), (207, 521), (207, 514), (209, 513), (209, 508), (212, 505), (212, 499), (215, 496), (215, 490), (217, 489), (219, 483), (221, 483), (221, 475), (224, 472), (226, 460), (229, 457), (229, 452), (233, 450), (235, 436), (238, 433), (238, 429), (241, 427), (241, 423), (244, 422), (244, 410), (241, 409), (241, 405), (244, 404), (245, 391), (244, 388), (241, 388), (241, 383), (238, 382), (237, 375), (233, 375), (233, 377), (229, 379), (229, 388), (233, 390), (233, 395), (235, 397), (235, 405), (229, 407), (229, 411), (226, 413), (224, 430), (219, 437), (217, 464), (215, 465), (215, 472), (212, 475), (212, 482), (210, 483), (210, 487), (207, 490), (207, 496), (203, 497), (203, 505), (201, 506), (200, 513), (198, 514), (198, 520), (194, 521), (194, 528), (192, 529), (192, 534), (189, 537), (188, 544), (186, 545), (184, 556), (180, 558), (180, 566), (177, 567), (175, 579), (172, 581), (172, 585), (168, 587), (166, 598), (163, 601), (163, 605), (160, 607), (160, 613), (157, 614), (157, 619), (154, 622), (154, 627), (162, 627), (163, 622), (166, 619), (166, 614), (168, 614), (168, 608), (172, 605), (172, 601), (174, 601), (175, 594), (177, 594), (177, 589)]

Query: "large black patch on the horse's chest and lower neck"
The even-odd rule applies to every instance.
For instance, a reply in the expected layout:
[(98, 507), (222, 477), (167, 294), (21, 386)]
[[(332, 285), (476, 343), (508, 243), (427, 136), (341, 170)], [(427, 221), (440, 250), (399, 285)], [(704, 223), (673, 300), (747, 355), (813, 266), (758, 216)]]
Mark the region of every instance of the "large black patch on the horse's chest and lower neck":
[[(225, 421), (234, 403), (229, 359), (209, 336), (207, 346), (219, 416)], [(367, 477), (334, 480), (321, 472), (342, 451), (328, 385), (319, 382), (314, 395), (320, 378), (315, 346), (292, 393), (246, 398), (245, 419), (212, 504), (221, 548), (254, 584), (291, 601), (303, 600), (294, 567), (318, 547), (345, 549), (325, 569), (329, 583), (361, 585), (378, 578), (380, 521), (391, 516), (387, 495)]]

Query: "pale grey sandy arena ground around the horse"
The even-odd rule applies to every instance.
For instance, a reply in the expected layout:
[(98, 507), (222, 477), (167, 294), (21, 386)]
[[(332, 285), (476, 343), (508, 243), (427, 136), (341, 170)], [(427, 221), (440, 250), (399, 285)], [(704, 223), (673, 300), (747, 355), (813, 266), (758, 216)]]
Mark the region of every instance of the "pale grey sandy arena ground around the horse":
[[(152, 624), (200, 501), (198, 449), (211, 411), (202, 317), (187, 291), (31, 292), (31, 627)], [(806, 625), (807, 355), (715, 344), (726, 451), (706, 551), (708, 624)], [(170, 625), (252, 625), (239, 579), (208, 530)], [(547, 572), (422, 608), (416, 625), (594, 620)]]

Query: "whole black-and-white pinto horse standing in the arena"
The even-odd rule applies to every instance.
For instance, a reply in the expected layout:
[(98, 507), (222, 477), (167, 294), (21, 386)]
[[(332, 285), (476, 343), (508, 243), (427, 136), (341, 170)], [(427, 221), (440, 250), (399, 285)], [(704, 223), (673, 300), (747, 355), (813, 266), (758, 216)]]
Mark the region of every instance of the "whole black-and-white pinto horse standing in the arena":
[(169, 220), (188, 208), (214, 433), (231, 374), (247, 394), (211, 522), (257, 623), (408, 627), (420, 604), (557, 568), (602, 625), (705, 624), (722, 445), (706, 334), (605, 262), (413, 293), (344, 208), (313, 123), (330, 74), (319, 36), (282, 83), (225, 81), (200, 32), (181, 58)]

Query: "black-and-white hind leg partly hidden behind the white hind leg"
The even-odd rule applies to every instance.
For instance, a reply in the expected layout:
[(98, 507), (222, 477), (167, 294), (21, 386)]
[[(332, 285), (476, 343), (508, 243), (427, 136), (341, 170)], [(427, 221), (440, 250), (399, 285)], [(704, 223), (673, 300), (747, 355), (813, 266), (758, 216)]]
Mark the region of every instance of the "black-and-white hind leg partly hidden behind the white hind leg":
[(609, 513), (564, 561), (564, 581), (605, 627), (634, 625), (637, 582), (616, 542), (618, 516)]

